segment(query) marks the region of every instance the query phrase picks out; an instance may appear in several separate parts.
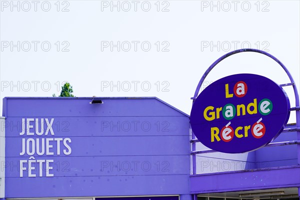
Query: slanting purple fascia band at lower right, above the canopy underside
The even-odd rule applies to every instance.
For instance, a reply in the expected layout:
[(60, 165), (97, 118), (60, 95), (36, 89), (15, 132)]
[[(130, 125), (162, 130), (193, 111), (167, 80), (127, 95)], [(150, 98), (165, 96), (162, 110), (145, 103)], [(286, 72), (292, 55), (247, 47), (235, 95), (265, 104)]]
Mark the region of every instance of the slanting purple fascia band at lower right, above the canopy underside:
[(300, 187), (299, 177), (299, 166), (191, 175), (190, 191), (208, 193)]

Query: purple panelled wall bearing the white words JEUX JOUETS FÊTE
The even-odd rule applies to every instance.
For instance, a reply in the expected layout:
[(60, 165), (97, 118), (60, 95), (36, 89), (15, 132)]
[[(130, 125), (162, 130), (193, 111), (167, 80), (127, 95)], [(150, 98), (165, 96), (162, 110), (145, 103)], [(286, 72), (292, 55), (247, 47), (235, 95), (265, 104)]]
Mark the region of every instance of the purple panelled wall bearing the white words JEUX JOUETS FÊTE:
[[(3, 99), (5, 197), (189, 193), (188, 116), (155, 97), (100, 99)], [(35, 121), (20, 133), (28, 118), (42, 135)]]

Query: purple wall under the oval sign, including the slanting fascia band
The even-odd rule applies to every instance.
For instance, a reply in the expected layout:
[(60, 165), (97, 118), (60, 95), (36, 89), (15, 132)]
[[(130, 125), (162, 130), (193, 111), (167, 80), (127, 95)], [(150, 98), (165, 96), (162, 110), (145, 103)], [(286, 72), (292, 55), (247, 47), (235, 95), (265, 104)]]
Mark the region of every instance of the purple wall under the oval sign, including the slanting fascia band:
[[(294, 127), (287, 125), (285, 128)], [(283, 132), (272, 142), (296, 139), (296, 132)], [(191, 193), (300, 187), (296, 145), (262, 147), (247, 154), (215, 152), (199, 155), (197, 172), (206, 173), (190, 176)], [(244, 168), (238, 168), (243, 160)], [(228, 166), (231, 170), (227, 170)], [(227, 184), (228, 180), (230, 184)]]

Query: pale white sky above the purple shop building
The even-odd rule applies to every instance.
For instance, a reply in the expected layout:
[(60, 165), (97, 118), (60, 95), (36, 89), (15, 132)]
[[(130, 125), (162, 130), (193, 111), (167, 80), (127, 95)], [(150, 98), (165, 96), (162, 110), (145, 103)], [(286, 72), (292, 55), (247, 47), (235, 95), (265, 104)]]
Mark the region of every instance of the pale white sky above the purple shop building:
[[(157, 96), (189, 114), (190, 97), (208, 66), (243, 47), (276, 56), (300, 87), (298, 0), (0, 0), (0, 5), (1, 99), (57, 96), (69, 81), (75, 96)], [(112, 51), (105, 47), (110, 41), (119, 41), (119, 51), (117, 45)], [(289, 82), (275, 61), (253, 52), (226, 58), (206, 81), (241, 72)], [(118, 81), (119, 91), (111, 87)], [(294, 106), (291, 87), (285, 88)]]

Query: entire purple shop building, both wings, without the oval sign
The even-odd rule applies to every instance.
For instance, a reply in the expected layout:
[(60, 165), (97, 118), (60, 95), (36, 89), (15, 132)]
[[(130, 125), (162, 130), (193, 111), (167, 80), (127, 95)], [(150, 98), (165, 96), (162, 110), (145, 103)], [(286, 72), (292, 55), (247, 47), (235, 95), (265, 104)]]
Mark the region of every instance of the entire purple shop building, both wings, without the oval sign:
[(0, 198), (299, 199), (295, 124), (277, 144), (221, 153), (193, 140), (189, 116), (156, 97), (96, 100), (3, 99)]

